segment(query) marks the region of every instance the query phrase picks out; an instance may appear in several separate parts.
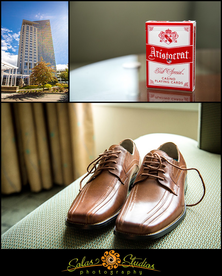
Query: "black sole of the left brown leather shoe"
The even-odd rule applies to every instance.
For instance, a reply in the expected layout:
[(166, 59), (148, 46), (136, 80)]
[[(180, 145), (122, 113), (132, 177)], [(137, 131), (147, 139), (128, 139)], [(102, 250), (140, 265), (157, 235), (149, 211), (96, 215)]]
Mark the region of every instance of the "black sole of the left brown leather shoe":
[[(134, 181), (136, 179), (136, 176), (137, 176), (137, 173), (130, 180), (129, 191), (132, 189), (132, 185), (133, 185), (133, 183), (134, 183)], [(99, 222), (99, 223), (95, 223), (95, 224), (72, 223), (72, 222), (68, 221), (68, 219), (66, 217), (66, 219), (65, 219), (65, 225), (69, 226), (69, 227), (77, 228), (77, 229), (82, 229), (82, 230), (94, 230), (94, 229), (103, 228), (103, 227), (106, 227), (107, 225), (111, 224), (112, 222), (114, 222), (116, 220), (116, 217), (119, 215), (120, 210), (115, 215), (113, 215), (112, 217), (106, 219), (105, 221), (102, 221), (102, 222)]]

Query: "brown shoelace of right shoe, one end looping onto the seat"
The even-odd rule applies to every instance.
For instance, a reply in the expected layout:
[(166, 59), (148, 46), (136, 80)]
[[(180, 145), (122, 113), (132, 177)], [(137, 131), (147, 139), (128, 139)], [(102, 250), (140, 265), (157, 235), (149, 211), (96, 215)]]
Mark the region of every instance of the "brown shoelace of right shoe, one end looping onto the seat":
[[(166, 165), (162, 163), (161, 159), (165, 160), (167, 163), (169, 163), (170, 165), (172, 165), (172, 166), (174, 166), (174, 167), (176, 167), (176, 168), (178, 168), (180, 170), (183, 170), (183, 171), (195, 170), (195, 171), (197, 171), (198, 174), (199, 174), (199, 177), (200, 177), (200, 179), (202, 181), (202, 184), (203, 184), (203, 196), (201, 197), (201, 199), (197, 203), (195, 203), (195, 204), (186, 204), (186, 206), (195, 206), (195, 205), (197, 205), (197, 204), (199, 204), (201, 202), (201, 200), (203, 199), (203, 197), (205, 195), (206, 187), (205, 187), (203, 178), (202, 178), (200, 172), (198, 171), (198, 169), (195, 169), (195, 168), (184, 169), (184, 168), (178, 167), (177, 165), (170, 163), (164, 156), (160, 156), (158, 153), (154, 153), (151, 156), (146, 155), (146, 158), (147, 157), (151, 158), (151, 161), (145, 161), (143, 163), (143, 165), (145, 166), (144, 170), (148, 170), (149, 169), (149, 170), (151, 170), (151, 172), (149, 171), (149, 174), (143, 173), (141, 175), (153, 176), (153, 177), (159, 178), (161, 180), (165, 180), (164, 178), (162, 178), (162, 177), (160, 177), (158, 175), (155, 175), (158, 171), (162, 171), (163, 173), (165, 173), (164, 169), (161, 169), (161, 166), (166, 167)], [(152, 161), (153, 158), (158, 159), (158, 161), (157, 162), (156, 161)], [(158, 167), (153, 167), (153, 165), (154, 166), (158, 165)]]

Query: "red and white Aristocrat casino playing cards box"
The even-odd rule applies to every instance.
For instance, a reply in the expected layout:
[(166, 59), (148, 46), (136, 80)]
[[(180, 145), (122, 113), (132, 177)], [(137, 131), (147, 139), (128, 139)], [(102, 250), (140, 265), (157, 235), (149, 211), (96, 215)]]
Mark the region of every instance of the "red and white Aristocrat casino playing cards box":
[(147, 21), (147, 87), (195, 89), (196, 21)]

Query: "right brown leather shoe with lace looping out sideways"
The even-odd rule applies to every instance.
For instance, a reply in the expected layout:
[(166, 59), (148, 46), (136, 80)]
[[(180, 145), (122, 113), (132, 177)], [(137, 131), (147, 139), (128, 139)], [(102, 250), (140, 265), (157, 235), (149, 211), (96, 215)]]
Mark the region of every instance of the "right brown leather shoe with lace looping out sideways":
[[(194, 169), (194, 168), (192, 168)], [(173, 230), (186, 216), (186, 163), (174, 143), (165, 143), (143, 159), (133, 188), (116, 219), (114, 234), (128, 239), (155, 239)]]

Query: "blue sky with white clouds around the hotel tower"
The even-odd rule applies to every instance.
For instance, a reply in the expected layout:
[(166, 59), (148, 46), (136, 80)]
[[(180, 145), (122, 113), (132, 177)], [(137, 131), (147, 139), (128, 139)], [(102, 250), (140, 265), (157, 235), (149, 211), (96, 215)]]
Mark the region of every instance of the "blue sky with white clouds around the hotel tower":
[(68, 1), (1, 1), (1, 59), (17, 65), (22, 20), (50, 20), (57, 69), (68, 57)]

